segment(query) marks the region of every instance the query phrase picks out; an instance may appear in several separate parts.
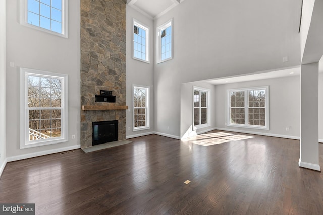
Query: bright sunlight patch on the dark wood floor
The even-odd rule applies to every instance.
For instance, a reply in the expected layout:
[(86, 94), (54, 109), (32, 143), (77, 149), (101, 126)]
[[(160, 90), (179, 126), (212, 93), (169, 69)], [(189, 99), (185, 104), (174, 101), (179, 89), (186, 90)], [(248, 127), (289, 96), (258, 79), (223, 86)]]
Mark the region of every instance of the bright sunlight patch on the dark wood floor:
[(187, 141), (192, 144), (198, 144), (201, 146), (211, 146), (216, 144), (223, 144), (225, 142), (238, 141), (244, 139), (254, 138), (254, 136), (247, 136), (241, 134), (217, 132), (217, 133), (205, 133), (200, 134), (191, 138), (188, 138)]

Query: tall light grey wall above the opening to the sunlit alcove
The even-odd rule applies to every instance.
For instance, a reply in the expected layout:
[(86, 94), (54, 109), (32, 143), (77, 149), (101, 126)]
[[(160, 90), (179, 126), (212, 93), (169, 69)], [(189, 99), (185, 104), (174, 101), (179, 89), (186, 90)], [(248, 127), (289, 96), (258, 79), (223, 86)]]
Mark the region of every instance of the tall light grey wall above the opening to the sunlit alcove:
[(155, 20), (174, 33), (174, 58), (154, 67), (155, 131), (180, 135), (182, 83), (299, 65), (300, 3), (186, 0)]

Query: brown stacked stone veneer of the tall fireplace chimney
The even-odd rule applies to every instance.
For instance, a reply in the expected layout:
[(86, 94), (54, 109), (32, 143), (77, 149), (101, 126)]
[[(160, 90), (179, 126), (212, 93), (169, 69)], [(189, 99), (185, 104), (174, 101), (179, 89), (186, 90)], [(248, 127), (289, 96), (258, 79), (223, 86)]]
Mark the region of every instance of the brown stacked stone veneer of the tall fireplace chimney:
[[(95, 102), (100, 90), (126, 105), (126, 0), (81, 0), (81, 105), (111, 104)], [(125, 110), (81, 111), (81, 148), (92, 146), (93, 121), (110, 120), (125, 139)]]

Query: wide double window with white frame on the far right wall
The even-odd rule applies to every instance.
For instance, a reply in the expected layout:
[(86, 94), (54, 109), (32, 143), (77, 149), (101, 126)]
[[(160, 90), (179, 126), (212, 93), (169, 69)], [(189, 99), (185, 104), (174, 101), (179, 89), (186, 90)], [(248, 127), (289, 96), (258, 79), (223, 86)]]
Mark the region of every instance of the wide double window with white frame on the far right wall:
[(228, 126), (269, 129), (268, 89), (228, 90)]

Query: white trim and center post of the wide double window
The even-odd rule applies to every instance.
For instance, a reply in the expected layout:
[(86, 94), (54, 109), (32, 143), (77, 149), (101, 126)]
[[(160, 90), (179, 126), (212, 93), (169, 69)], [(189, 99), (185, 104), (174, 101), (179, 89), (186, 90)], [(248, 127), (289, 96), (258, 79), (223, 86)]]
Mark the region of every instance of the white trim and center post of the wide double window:
[[(265, 126), (260, 125), (249, 125), (248, 124), (248, 110), (249, 110), (249, 96), (245, 96), (245, 124), (234, 124), (230, 122), (230, 92), (234, 91), (244, 91), (245, 95), (248, 95), (248, 91), (250, 90), (265, 90)], [(227, 89), (227, 126), (228, 127), (241, 127), (241, 128), (253, 128), (253, 129), (261, 129), (261, 130), (269, 130), (270, 129), (270, 123), (269, 123), (269, 86), (261, 86), (261, 87), (251, 87), (251, 88), (238, 88), (238, 89)]]

